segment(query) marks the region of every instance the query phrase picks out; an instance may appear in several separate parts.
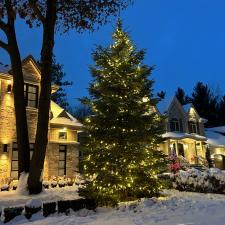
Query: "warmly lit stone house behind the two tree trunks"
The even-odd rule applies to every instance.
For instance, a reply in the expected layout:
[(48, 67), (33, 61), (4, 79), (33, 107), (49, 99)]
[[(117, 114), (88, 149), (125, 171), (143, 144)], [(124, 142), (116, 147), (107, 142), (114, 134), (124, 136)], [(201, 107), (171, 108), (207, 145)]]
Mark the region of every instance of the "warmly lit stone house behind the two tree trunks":
[[(41, 74), (32, 56), (24, 59), (22, 65), (30, 155), (32, 156)], [(10, 69), (7, 67), (0, 68), (0, 179), (18, 178), (18, 150), (12, 87), (13, 77), (10, 75)], [(57, 88), (52, 86), (52, 92), (55, 91), (57, 91)], [(76, 175), (79, 163), (77, 134), (80, 130), (82, 130), (82, 124), (52, 101), (44, 179), (49, 179), (51, 176), (66, 175), (67, 177), (74, 177)]]

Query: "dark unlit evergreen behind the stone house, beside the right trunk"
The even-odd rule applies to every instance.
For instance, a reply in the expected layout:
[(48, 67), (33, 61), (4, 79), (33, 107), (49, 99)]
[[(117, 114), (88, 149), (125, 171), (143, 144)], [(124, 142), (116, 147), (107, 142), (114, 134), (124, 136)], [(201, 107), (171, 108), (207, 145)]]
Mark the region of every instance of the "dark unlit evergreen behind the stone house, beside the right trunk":
[(64, 80), (66, 74), (63, 71), (63, 65), (56, 62), (55, 56), (53, 56), (52, 63), (52, 83), (59, 86), (59, 90), (52, 94), (51, 98), (54, 102), (60, 105), (64, 109), (68, 109), (69, 103), (67, 101), (67, 94), (63, 87), (71, 86), (73, 82)]

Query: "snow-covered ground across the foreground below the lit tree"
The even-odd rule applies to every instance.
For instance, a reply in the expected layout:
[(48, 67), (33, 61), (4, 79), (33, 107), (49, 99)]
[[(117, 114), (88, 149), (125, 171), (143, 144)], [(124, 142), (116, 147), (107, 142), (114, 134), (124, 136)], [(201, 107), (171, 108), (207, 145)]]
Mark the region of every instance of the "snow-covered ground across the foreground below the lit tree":
[(166, 197), (123, 203), (118, 209), (98, 208), (97, 212), (81, 210), (69, 216), (40, 214), (27, 221), (23, 216), (9, 224), (32, 225), (223, 225), (225, 196), (178, 191), (165, 191)]

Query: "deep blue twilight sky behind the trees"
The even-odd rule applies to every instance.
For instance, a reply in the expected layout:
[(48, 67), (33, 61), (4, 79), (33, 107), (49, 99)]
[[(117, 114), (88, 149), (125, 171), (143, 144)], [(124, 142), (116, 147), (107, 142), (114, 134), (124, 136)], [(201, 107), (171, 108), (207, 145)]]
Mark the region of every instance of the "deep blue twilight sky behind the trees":
[[(132, 40), (146, 49), (145, 63), (156, 65), (156, 91), (171, 95), (179, 86), (190, 93), (197, 81), (203, 81), (225, 93), (224, 0), (136, 0), (121, 17)], [(87, 95), (91, 51), (96, 44), (111, 43), (115, 21), (95, 33), (56, 36), (57, 61), (64, 64), (66, 79), (74, 82), (67, 89), (71, 104)], [(41, 29), (29, 30), (19, 22), (17, 34), (22, 56), (39, 58)], [(9, 63), (2, 49), (0, 61)]]

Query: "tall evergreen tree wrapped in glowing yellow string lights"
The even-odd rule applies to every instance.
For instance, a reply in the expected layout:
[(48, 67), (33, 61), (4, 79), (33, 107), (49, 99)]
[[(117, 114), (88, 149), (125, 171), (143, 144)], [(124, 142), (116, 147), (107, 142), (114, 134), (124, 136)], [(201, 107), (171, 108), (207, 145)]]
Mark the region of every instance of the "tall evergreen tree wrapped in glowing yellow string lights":
[(163, 133), (162, 118), (151, 109), (152, 67), (118, 22), (109, 47), (97, 47), (91, 67), (90, 98), (83, 102), (94, 115), (86, 119), (84, 175), (90, 183), (80, 194), (99, 204), (152, 197), (162, 187), (157, 174), (165, 169), (163, 153), (156, 150)]

